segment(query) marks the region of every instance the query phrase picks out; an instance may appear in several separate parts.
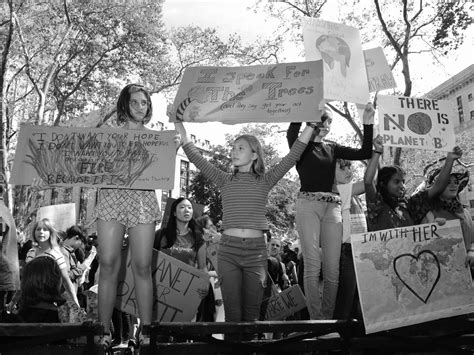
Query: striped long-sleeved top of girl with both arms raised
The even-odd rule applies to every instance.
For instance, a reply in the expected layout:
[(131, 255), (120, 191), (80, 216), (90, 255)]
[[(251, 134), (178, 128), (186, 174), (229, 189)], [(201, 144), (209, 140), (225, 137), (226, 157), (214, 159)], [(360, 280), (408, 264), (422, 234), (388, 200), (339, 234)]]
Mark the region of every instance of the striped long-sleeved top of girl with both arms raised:
[(189, 161), (221, 190), (224, 230), (229, 228), (268, 229), (265, 217), (268, 193), (296, 164), (305, 148), (306, 144), (297, 140), (288, 155), (268, 172), (257, 177), (252, 173), (226, 173), (209, 163), (192, 142), (183, 146)]

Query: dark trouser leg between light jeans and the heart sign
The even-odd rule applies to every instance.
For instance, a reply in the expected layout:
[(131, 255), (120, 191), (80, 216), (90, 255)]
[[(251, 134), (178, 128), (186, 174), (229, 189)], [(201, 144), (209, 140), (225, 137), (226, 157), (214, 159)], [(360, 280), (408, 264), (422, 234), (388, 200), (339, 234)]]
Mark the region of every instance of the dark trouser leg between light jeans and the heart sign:
[(341, 247), (339, 288), (337, 290), (334, 318), (362, 319), (351, 243), (343, 243)]

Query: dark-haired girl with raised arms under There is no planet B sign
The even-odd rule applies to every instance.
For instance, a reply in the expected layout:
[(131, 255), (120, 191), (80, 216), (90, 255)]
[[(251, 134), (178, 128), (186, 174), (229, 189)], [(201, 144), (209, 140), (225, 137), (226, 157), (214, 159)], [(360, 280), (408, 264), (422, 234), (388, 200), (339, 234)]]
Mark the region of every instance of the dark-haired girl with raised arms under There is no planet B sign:
[(364, 175), (367, 201), (367, 229), (369, 232), (420, 224), (430, 210), (433, 199), (437, 198), (449, 182), (451, 169), (462, 150), (454, 147), (449, 152), (435, 182), (418, 193), (405, 196), (405, 172), (396, 165), (384, 166), (375, 175), (379, 159), (383, 153), (382, 137), (374, 139), (374, 153)]

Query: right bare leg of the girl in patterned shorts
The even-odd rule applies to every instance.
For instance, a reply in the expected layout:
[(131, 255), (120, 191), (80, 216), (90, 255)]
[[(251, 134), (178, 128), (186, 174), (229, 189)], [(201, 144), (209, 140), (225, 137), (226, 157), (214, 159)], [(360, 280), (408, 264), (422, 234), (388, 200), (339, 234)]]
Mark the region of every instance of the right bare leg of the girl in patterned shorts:
[(153, 282), (151, 259), (155, 240), (155, 224), (139, 224), (129, 229), (129, 245), (135, 279), (135, 296), (141, 324), (149, 325), (152, 320)]

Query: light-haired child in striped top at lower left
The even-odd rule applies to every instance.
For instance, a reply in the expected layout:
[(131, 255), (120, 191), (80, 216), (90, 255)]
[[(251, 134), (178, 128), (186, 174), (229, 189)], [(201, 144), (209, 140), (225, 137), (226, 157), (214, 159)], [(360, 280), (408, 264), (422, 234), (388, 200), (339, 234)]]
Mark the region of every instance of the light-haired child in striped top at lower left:
[(69, 278), (69, 270), (67, 262), (59, 247), (59, 238), (56, 229), (53, 227), (49, 219), (43, 218), (37, 221), (33, 226), (33, 246), (26, 255), (26, 264), (39, 256), (48, 256), (52, 258), (59, 266), (63, 277), (62, 283), (70, 299), (79, 305), (77, 300), (76, 288)]

